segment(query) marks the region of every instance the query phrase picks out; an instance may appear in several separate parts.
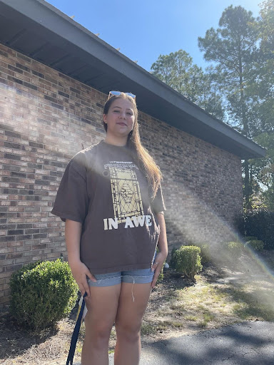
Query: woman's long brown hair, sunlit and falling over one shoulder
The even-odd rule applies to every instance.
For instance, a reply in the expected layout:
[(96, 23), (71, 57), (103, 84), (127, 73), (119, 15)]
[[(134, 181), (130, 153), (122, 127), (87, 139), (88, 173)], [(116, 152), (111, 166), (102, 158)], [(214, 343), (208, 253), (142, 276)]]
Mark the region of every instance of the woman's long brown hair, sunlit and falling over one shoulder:
[[(106, 101), (106, 104), (103, 108), (103, 113), (108, 114), (111, 104), (118, 98), (126, 99), (133, 105), (134, 125), (133, 130), (131, 130), (131, 132), (128, 134), (127, 146), (129, 150), (131, 150), (133, 158), (136, 158), (138, 167), (141, 168), (141, 170), (143, 170), (145, 173), (148, 183), (152, 187), (153, 197), (155, 197), (157, 188), (162, 180), (162, 174), (160, 168), (158, 168), (158, 165), (156, 165), (155, 161), (148, 153), (148, 150), (146, 150), (146, 148), (144, 148), (141, 143), (138, 125), (138, 109), (135, 99), (131, 98), (131, 96), (128, 96), (126, 93), (121, 93), (121, 95), (118, 96), (111, 96), (111, 98)], [(106, 131), (108, 130), (108, 125), (104, 122), (103, 127)]]

